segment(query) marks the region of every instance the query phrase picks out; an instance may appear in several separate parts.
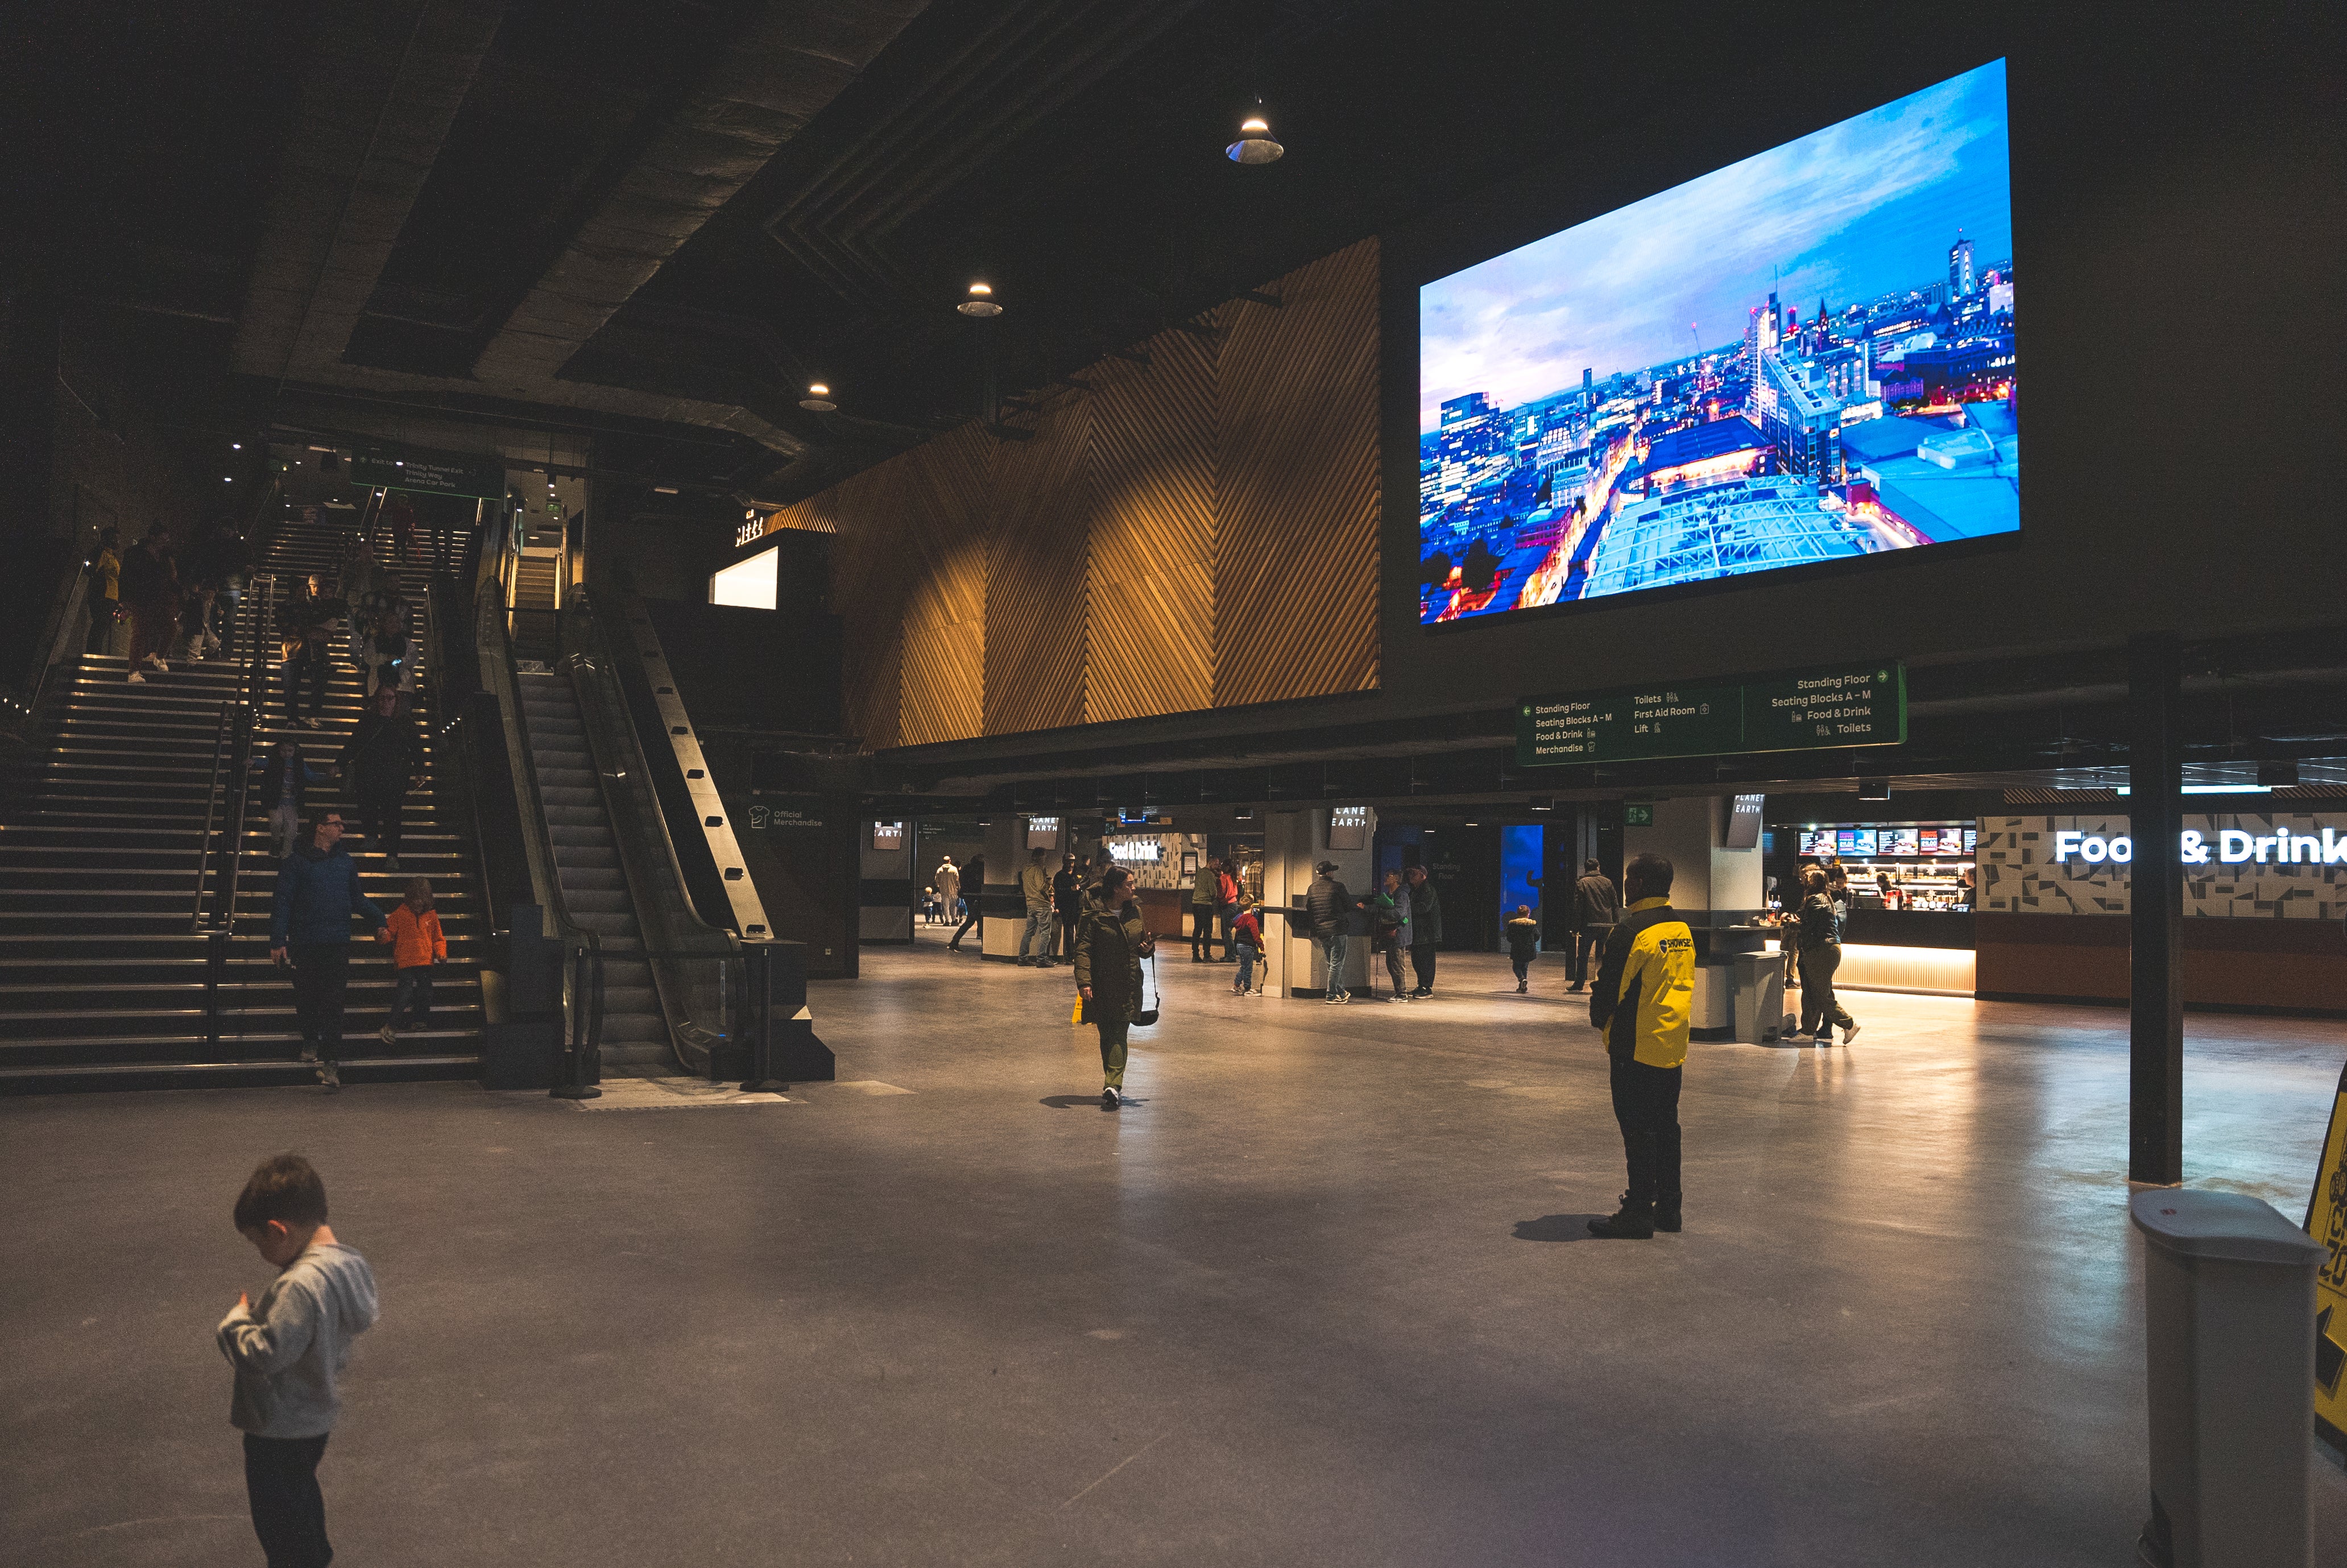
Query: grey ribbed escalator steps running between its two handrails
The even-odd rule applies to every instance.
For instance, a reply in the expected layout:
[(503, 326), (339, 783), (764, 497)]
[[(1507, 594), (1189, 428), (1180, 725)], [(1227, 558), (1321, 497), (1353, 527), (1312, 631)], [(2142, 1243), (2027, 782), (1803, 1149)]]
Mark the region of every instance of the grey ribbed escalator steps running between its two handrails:
[(674, 1073), (669, 1023), (643, 958), (643, 930), (620, 871), (603, 789), (580, 725), (577, 692), (568, 676), (516, 676), (521, 721), (537, 772), (537, 798), (554, 840), (554, 873), (570, 920), (596, 932), (603, 951), (603, 1075)]

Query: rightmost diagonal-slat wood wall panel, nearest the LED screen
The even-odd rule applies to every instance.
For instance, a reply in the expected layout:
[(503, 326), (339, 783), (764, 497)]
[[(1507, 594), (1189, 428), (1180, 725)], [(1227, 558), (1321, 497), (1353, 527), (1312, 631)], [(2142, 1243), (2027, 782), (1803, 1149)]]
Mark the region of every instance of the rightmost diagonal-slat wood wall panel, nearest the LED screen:
[(1218, 707), (1378, 685), (1378, 242), (1265, 291), (1216, 312)]

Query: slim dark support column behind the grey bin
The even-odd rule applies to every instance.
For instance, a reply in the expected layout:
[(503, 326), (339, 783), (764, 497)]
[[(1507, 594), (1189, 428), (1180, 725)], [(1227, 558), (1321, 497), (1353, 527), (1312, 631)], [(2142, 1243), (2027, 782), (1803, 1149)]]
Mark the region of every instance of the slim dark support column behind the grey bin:
[(2183, 904), (2183, 657), (2173, 631), (2126, 643), (2129, 866), (2129, 1106), (2126, 1178), (2173, 1188), (2185, 1178)]

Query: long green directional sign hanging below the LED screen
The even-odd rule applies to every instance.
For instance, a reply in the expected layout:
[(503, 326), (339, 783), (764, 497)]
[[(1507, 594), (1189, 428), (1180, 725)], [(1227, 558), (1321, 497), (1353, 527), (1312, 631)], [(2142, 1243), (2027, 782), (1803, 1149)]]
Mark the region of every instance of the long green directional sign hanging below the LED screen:
[(1732, 751), (1896, 746), (1906, 739), (1906, 667), (1821, 664), (1739, 681), (1622, 685), (1526, 697), (1516, 763), (1636, 763)]

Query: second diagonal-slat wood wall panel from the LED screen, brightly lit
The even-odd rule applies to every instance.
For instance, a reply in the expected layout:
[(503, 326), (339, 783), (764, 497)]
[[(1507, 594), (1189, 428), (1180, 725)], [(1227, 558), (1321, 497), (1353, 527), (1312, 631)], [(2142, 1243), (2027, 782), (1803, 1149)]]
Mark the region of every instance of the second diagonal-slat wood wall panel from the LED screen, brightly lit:
[(1159, 333), (1091, 383), (1084, 718), (1213, 704), (1213, 340)]

